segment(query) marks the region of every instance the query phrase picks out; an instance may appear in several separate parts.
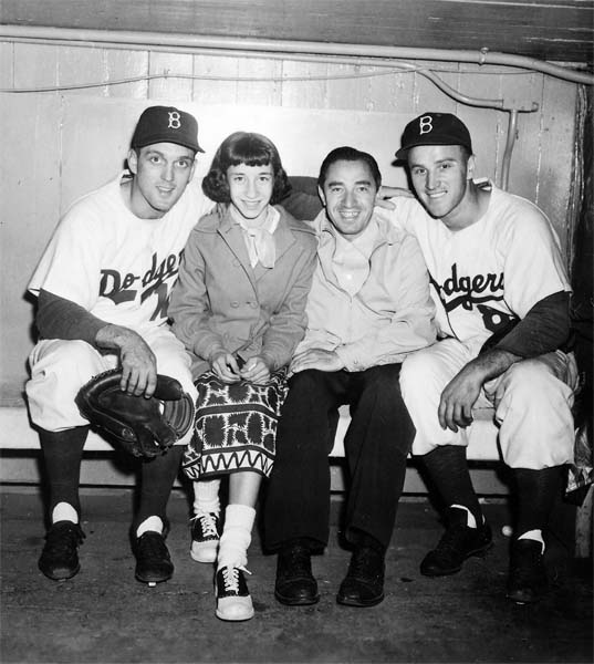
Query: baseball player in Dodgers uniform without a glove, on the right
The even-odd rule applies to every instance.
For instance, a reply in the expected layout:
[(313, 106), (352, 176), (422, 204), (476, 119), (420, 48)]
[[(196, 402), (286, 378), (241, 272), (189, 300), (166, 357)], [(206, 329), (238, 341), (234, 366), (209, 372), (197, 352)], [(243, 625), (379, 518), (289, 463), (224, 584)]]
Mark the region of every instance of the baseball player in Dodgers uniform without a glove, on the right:
[(398, 198), (383, 214), (419, 241), (440, 336), (407, 357), (400, 374), (413, 453), (447, 506), (446, 532), (420, 571), (457, 572), (492, 544), (465, 446), (478, 409), (494, 408), (518, 491), (507, 594), (531, 602), (546, 588), (543, 530), (573, 460), (577, 371), (566, 346), (570, 286), (559, 240), (535, 205), (472, 179), (471, 138), (455, 115), (411, 121), (396, 155), (423, 207)]

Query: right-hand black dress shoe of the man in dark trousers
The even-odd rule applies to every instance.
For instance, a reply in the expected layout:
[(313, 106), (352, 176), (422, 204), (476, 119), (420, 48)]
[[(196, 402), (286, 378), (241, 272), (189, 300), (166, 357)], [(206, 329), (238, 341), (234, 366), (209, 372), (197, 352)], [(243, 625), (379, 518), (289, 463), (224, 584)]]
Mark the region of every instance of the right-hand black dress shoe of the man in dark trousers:
[(336, 601), (347, 606), (374, 606), (384, 599), (384, 554), (376, 548), (357, 547), (341, 583)]

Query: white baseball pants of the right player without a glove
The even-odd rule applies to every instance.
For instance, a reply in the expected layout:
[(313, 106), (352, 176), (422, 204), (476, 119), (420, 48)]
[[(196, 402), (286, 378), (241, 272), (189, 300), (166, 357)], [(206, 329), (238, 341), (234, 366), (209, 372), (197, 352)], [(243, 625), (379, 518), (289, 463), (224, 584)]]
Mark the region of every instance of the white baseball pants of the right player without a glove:
[[(414, 455), (440, 445), (468, 445), (470, 427), (442, 429), (438, 419), (441, 392), (476, 357), (456, 339), (445, 339), (409, 355), (400, 371), (404, 401), (416, 426)], [(573, 461), (571, 407), (577, 386), (573, 353), (561, 351), (512, 364), (483, 385), (473, 407), (489, 408), (499, 426), (503, 461), (512, 468), (540, 470)]]

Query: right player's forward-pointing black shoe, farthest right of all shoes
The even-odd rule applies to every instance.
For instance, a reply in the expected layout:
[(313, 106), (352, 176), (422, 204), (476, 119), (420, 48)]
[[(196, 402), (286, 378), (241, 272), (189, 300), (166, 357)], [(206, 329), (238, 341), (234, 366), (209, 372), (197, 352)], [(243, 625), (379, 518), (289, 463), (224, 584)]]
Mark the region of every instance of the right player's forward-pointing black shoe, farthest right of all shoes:
[(549, 588), (541, 542), (515, 540), (511, 548), (507, 596), (517, 604), (530, 604)]

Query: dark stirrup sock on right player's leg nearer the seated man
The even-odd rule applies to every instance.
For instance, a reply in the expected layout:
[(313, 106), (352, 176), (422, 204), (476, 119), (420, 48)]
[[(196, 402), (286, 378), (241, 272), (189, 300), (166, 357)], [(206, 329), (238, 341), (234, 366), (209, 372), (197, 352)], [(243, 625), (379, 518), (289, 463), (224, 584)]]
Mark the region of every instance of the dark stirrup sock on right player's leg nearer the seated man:
[(477, 526), (480, 526), (482, 511), (468, 471), (466, 447), (442, 445), (421, 458), (445, 506), (462, 505), (475, 517)]

